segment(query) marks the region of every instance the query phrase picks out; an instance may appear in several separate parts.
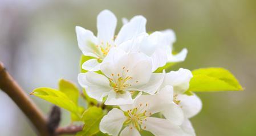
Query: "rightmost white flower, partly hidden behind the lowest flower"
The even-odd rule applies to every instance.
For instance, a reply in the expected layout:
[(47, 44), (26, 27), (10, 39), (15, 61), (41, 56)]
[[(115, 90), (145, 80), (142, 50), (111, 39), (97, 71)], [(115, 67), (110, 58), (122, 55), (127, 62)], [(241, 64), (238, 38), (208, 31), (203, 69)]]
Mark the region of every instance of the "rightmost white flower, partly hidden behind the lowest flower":
[[(193, 126), (189, 118), (196, 116), (202, 109), (202, 102), (196, 94), (188, 96), (183, 94), (189, 88), (190, 79), (193, 77), (192, 73), (186, 69), (179, 69), (178, 71), (170, 71), (166, 73), (165, 79), (162, 82), (162, 87), (173, 86), (174, 97), (173, 101), (181, 107), (185, 120), (181, 125), (184, 136), (194, 136)], [(162, 114), (171, 114), (171, 111), (165, 110)]]

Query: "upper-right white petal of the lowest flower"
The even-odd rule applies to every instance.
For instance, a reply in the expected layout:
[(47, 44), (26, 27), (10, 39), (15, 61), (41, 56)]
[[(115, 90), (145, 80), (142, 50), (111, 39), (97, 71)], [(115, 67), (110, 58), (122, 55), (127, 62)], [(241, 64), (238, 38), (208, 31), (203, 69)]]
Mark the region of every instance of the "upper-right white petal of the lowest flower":
[(155, 95), (142, 95), (138, 97), (132, 108), (138, 108), (139, 113), (147, 111), (147, 116), (158, 112), (165, 111), (172, 104), (173, 88), (172, 86), (166, 86), (162, 91)]

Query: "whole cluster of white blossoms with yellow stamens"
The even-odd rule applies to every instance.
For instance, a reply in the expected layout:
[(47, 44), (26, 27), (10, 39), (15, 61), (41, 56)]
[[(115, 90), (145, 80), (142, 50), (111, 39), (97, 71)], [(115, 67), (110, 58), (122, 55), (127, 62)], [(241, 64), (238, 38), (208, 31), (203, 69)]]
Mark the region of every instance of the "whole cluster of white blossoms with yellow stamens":
[(88, 96), (115, 105), (101, 120), (100, 131), (109, 135), (196, 135), (189, 118), (200, 112), (201, 100), (185, 95), (192, 73), (187, 69), (154, 73), (169, 62), (184, 61), (187, 50), (172, 54), (176, 41), (171, 29), (148, 34), (147, 20), (124, 19), (115, 35), (117, 19), (109, 10), (97, 16), (97, 36), (76, 27), (86, 73), (78, 75)]

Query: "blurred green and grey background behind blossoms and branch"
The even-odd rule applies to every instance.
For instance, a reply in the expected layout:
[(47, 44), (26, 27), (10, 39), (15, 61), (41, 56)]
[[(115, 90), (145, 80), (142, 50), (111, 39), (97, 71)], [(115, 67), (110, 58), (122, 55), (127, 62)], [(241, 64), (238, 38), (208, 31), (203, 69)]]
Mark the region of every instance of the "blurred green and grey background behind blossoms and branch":
[[(188, 48), (190, 70), (225, 67), (245, 91), (198, 93), (200, 114), (192, 118), (197, 135), (256, 135), (256, 1), (0, 1), (0, 61), (29, 94), (36, 87), (77, 83), (79, 57), (75, 26), (96, 34), (96, 16), (109, 9), (119, 19), (147, 18), (147, 31), (172, 28), (176, 51)], [(117, 32), (116, 31), (116, 32)], [(51, 104), (31, 96), (44, 113)], [(26, 117), (0, 91), (0, 135), (36, 135)], [(63, 111), (62, 125), (70, 120)]]

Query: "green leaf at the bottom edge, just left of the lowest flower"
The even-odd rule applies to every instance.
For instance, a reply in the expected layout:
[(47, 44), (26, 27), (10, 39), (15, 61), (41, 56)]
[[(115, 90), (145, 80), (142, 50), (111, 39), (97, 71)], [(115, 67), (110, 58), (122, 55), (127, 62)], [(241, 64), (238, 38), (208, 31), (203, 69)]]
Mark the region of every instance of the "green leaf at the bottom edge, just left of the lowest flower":
[(99, 124), (101, 118), (103, 118), (104, 112), (101, 108), (90, 107), (88, 108), (82, 116), (84, 122), (83, 130), (76, 134), (76, 136), (91, 136), (97, 134), (99, 130)]

